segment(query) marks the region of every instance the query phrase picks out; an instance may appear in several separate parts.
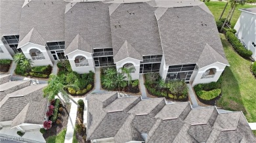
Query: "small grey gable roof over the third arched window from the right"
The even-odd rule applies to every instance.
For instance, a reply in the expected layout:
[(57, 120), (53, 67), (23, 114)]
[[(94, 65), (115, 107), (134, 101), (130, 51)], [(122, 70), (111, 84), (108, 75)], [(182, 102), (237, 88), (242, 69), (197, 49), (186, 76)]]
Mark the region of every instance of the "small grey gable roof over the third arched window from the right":
[(68, 45), (65, 50), (65, 55), (68, 55), (75, 50), (82, 50), (85, 52), (93, 53), (93, 48), (91, 48), (91, 46), (79, 34), (77, 34), (70, 45)]

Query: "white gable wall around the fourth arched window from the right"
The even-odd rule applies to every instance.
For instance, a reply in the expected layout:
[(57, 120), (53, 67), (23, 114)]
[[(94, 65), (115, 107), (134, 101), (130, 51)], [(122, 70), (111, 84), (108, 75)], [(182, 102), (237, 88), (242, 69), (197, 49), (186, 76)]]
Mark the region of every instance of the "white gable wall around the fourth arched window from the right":
[[(33, 60), (32, 57), (30, 56), (30, 50), (33, 49), (33, 48), (37, 49), (37, 50), (40, 50), (43, 53), (43, 56), (45, 56), (45, 59)], [(24, 55), (28, 59), (32, 59), (32, 61), (33, 61), (32, 67), (43, 66), (43, 65), (53, 66), (53, 62), (51, 61), (51, 58), (49, 57), (45, 46), (40, 46), (38, 44), (28, 43), (28, 44), (22, 46), (21, 49), (22, 49), (22, 52), (24, 53)]]

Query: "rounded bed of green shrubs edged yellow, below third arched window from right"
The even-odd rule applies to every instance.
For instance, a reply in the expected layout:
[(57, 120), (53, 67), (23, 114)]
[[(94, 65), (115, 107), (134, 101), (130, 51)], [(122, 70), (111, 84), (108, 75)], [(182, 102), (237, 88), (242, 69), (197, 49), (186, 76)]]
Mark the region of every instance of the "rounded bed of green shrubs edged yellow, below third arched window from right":
[(78, 74), (72, 71), (70, 62), (68, 60), (59, 61), (58, 74), (63, 85), (73, 85), (66, 88), (66, 91), (72, 96), (81, 96), (89, 93), (94, 87), (93, 72)]

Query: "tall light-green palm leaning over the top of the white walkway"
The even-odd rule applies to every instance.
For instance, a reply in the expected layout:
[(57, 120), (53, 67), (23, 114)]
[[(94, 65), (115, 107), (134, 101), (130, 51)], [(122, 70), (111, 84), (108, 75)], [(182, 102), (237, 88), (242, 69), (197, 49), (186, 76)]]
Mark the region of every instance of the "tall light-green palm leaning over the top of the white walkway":
[[(43, 89), (43, 97), (47, 97), (47, 99), (49, 101), (53, 101), (55, 96), (58, 96), (60, 101), (62, 101), (58, 95), (58, 93), (60, 93), (60, 95), (62, 95), (64, 101), (69, 102), (70, 100), (72, 100), (75, 104), (77, 104), (74, 101), (74, 99), (72, 99), (72, 97), (70, 97), (70, 95), (68, 95), (68, 93), (65, 91), (65, 89), (68, 87), (72, 87), (76, 90), (79, 90), (79, 87), (77, 87), (75, 85), (71, 85), (71, 84), (64, 85), (60, 81), (61, 80), (58, 76), (56, 76), (55, 74), (50, 74), (50, 78), (48, 80), (48, 86)], [(62, 104), (64, 105), (63, 101), (62, 101)], [(77, 106), (79, 106), (79, 104), (77, 104)]]

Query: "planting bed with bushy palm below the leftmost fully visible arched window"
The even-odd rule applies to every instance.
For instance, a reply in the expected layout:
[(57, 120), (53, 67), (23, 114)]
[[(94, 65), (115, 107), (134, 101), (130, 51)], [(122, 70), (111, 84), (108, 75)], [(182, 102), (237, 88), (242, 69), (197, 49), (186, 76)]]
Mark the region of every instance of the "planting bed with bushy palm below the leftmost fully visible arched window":
[(49, 78), (53, 67), (51, 65), (32, 67), (33, 61), (27, 59), (24, 54), (18, 53), (14, 56), (14, 62), (17, 63), (15, 74), (21, 76), (32, 76), (35, 78)]

